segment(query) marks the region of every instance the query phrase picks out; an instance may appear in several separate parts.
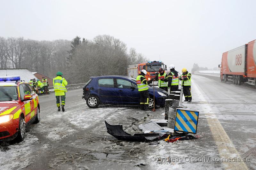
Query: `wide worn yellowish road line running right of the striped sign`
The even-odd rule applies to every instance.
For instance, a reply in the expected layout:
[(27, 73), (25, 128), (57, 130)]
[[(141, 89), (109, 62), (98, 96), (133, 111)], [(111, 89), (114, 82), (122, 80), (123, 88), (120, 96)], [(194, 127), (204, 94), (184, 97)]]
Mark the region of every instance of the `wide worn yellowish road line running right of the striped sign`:
[[(195, 85), (196, 83), (194, 83)], [(205, 100), (202, 91), (199, 90), (199, 86), (196, 84), (194, 88), (201, 93), (200, 96), (198, 96), (200, 99)], [(209, 113), (209, 110), (212, 110), (211, 107), (208, 105), (209, 103), (207, 102), (207, 105), (204, 105), (205, 107), (203, 109), (203, 112), (206, 114), (210, 114), (212, 116), (215, 116), (212, 113)], [(234, 144), (231, 142), (230, 138), (228, 137), (228, 134), (220, 124), (220, 121), (216, 118), (209, 118), (206, 117), (207, 123), (209, 125), (209, 128), (212, 132), (213, 139), (218, 147), (219, 154), (221, 158), (234, 158), (236, 157), (237, 159), (239, 158), (240, 160), (243, 160), (236, 150)], [(248, 169), (246, 164), (244, 162), (228, 162), (224, 161), (222, 162), (224, 165), (225, 169)]]

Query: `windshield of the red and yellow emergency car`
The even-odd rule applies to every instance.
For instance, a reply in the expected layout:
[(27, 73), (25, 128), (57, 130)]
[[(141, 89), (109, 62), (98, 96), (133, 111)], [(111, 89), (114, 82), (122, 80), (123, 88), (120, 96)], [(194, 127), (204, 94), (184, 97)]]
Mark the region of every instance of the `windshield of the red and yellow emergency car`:
[(13, 101), (18, 100), (16, 87), (13, 86), (0, 86), (0, 101)]

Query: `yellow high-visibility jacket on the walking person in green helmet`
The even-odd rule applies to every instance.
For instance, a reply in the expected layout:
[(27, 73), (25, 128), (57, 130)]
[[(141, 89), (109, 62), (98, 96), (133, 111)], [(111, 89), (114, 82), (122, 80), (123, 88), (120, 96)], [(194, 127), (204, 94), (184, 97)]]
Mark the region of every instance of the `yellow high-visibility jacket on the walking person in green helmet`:
[(55, 96), (64, 96), (67, 92), (66, 86), (68, 82), (65, 78), (57, 76), (53, 79), (53, 89), (55, 91)]

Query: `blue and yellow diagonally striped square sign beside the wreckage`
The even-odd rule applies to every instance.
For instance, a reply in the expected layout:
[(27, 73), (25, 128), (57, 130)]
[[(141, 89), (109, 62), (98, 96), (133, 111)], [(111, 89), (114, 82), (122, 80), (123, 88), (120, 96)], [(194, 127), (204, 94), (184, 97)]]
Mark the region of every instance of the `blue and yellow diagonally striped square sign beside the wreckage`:
[(196, 134), (199, 112), (176, 109), (174, 131)]

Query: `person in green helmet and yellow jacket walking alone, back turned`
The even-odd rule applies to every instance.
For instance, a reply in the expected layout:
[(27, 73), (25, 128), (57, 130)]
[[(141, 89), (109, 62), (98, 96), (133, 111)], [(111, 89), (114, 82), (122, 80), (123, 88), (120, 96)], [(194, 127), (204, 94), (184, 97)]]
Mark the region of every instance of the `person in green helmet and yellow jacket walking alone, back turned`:
[(68, 82), (66, 81), (65, 78), (62, 77), (63, 73), (57, 72), (56, 73), (57, 77), (53, 79), (53, 89), (55, 91), (55, 97), (56, 97), (56, 104), (58, 107), (58, 111), (60, 111), (60, 99), (61, 99), (61, 109), (62, 112), (65, 111), (64, 106), (65, 106), (65, 98), (66, 98), (66, 86)]

